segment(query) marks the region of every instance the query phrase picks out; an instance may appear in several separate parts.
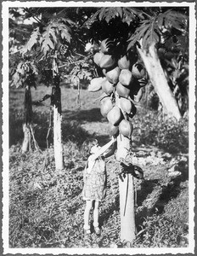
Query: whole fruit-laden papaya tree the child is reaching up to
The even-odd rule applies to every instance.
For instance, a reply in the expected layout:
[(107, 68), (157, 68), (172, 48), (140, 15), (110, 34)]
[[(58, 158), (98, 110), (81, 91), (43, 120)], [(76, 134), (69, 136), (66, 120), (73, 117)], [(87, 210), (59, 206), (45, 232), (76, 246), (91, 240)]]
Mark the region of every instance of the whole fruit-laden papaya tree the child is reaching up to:
[[(115, 159), (119, 169), (121, 241), (136, 237), (134, 211), (134, 166), (132, 165), (132, 117), (142, 96), (140, 78), (133, 76), (137, 50), (127, 50), (127, 38), (144, 14), (135, 8), (101, 8), (88, 20), (90, 35), (99, 44), (93, 56), (98, 78), (90, 91), (103, 90), (101, 113), (110, 122), (110, 135), (117, 137)], [(100, 42), (100, 43), (99, 43)]]

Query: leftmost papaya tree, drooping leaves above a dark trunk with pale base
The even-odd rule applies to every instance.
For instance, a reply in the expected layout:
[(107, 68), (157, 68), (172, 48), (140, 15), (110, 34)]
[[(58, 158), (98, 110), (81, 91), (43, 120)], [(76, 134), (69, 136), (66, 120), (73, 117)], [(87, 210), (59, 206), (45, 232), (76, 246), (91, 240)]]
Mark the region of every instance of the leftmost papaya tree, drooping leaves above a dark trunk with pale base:
[[(21, 22), (21, 15), (17, 9), (10, 9), (9, 18), (9, 79), (10, 86), (24, 88), (23, 132), (24, 139), (22, 153), (31, 150), (31, 88), (37, 87), (37, 65), (30, 58), (21, 58), (20, 49), (25, 44), (25, 38), (30, 35), (32, 25)], [(37, 145), (35, 144), (37, 147)]]

